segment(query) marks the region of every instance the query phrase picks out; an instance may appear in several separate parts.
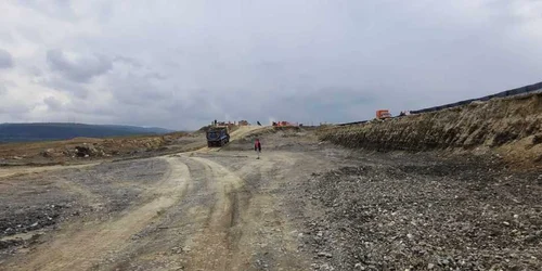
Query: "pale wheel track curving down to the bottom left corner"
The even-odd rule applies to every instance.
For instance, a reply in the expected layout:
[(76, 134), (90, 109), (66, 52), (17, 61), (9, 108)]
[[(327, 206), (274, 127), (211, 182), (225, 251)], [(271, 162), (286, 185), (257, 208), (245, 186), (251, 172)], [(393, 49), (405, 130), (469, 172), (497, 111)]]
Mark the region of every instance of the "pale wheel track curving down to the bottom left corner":
[(190, 182), (188, 167), (177, 158), (166, 158), (170, 171), (147, 193), (152, 201), (128, 210), (124, 216), (59, 236), (38, 247), (27, 262), (9, 270), (87, 270), (114, 253), (126, 248), (130, 237), (149, 225), (157, 214), (179, 202)]

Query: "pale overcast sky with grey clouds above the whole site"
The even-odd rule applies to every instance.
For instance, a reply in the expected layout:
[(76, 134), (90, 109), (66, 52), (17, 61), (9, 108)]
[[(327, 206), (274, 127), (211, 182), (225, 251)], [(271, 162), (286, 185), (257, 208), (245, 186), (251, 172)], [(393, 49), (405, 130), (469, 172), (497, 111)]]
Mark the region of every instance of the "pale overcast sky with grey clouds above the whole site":
[(542, 81), (541, 0), (3, 0), (0, 122), (346, 122)]

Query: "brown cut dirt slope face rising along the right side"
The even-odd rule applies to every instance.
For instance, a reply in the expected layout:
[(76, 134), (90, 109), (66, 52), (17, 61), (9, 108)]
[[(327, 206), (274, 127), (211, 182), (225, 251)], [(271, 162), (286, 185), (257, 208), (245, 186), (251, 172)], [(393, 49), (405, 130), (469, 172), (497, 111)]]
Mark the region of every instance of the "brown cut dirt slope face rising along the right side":
[(542, 162), (542, 93), (472, 103), (386, 121), (334, 127), (322, 140), (378, 151), (493, 149), (514, 160)]

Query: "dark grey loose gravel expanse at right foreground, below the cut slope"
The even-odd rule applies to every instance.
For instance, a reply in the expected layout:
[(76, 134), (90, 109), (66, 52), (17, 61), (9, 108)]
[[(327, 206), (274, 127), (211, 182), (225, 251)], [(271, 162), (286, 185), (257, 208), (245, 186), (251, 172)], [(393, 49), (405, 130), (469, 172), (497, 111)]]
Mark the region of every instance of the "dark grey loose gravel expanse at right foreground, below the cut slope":
[(541, 270), (542, 175), (427, 163), (304, 184), (315, 270)]

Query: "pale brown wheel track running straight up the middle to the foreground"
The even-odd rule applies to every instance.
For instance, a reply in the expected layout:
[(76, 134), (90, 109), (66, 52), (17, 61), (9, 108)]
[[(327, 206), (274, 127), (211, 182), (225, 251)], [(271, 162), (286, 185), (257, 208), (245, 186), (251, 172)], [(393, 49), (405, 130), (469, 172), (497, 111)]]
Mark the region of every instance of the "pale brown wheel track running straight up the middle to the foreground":
[[(305, 270), (292, 225), (281, 214), (280, 196), (273, 191), (283, 185), (278, 171), (296, 160), (289, 155), (247, 159), (230, 170), (211, 158), (191, 157), (208, 167), (209, 193), (214, 195), (199, 232), (185, 246), (185, 270)], [(204, 216), (205, 216), (204, 215)], [(297, 236), (297, 235), (296, 235)]]

